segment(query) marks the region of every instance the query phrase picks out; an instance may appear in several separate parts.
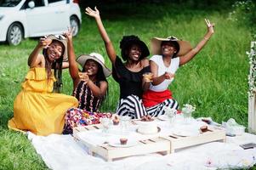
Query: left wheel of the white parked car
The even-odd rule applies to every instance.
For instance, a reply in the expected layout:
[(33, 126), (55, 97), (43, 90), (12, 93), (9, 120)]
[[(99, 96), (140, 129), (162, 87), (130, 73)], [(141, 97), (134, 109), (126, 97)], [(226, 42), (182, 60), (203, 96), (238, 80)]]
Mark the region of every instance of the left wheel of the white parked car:
[(18, 23), (13, 23), (7, 31), (7, 42), (9, 45), (19, 45), (22, 41), (23, 29)]

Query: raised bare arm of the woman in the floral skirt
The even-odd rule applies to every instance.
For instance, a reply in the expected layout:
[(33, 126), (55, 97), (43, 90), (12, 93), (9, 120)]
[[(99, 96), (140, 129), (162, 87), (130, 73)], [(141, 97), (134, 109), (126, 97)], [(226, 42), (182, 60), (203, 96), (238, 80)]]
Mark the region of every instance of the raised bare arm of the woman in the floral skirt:
[(78, 75), (78, 66), (76, 61), (76, 55), (73, 48), (73, 41), (72, 41), (72, 29), (68, 29), (65, 32), (65, 37), (67, 38), (67, 51), (68, 51), (68, 62), (69, 62), (69, 71), (71, 78), (73, 79), (73, 88), (77, 87), (78, 82), (80, 81)]

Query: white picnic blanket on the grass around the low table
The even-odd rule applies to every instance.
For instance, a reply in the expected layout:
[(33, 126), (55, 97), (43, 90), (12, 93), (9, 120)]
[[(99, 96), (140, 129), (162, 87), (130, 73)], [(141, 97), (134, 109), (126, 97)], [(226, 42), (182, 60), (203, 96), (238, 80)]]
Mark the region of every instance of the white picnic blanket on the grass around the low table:
[(51, 134), (43, 137), (28, 133), (28, 139), (46, 165), (54, 170), (224, 169), (247, 168), (256, 164), (256, 148), (243, 150), (239, 146), (248, 142), (256, 143), (256, 135), (250, 133), (227, 137), (226, 143), (201, 144), (167, 156), (148, 154), (111, 162), (90, 156), (88, 149), (71, 135)]

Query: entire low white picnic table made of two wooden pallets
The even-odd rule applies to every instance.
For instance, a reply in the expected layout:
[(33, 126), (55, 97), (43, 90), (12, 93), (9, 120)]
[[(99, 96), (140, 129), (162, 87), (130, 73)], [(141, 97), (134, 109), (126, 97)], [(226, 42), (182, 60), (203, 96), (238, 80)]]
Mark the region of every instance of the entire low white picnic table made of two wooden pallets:
[[(132, 121), (136, 124), (137, 121)], [(161, 126), (160, 126), (161, 127)], [(102, 125), (91, 125), (86, 127), (74, 128), (74, 137), (77, 138), (88, 147), (88, 150), (94, 156), (95, 154), (102, 156), (106, 161), (113, 161), (117, 158), (127, 156), (137, 156), (149, 153), (160, 153), (166, 155), (174, 153), (175, 150), (191, 147), (197, 144), (206, 144), (213, 141), (225, 142), (225, 130), (219, 127), (208, 126), (208, 131), (198, 133), (196, 136), (179, 136), (171, 132), (157, 133), (156, 137), (151, 139), (139, 140), (137, 145), (131, 147), (114, 147), (111, 144), (95, 145), (86, 139), (80, 139), (78, 133), (88, 132), (91, 130), (101, 129)], [(168, 132), (170, 131), (170, 133)]]

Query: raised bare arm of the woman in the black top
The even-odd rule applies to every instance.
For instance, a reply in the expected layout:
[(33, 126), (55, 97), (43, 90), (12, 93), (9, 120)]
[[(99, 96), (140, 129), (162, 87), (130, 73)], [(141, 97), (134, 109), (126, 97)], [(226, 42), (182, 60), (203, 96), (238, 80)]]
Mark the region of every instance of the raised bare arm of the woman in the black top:
[(94, 8), (94, 10), (88, 7), (85, 9), (85, 14), (88, 14), (89, 16), (94, 17), (94, 19), (96, 20), (98, 29), (100, 31), (100, 36), (102, 37), (102, 39), (105, 43), (106, 53), (108, 54), (109, 58), (111, 59), (112, 64), (115, 64), (117, 54), (112, 45), (111, 39), (108, 37), (108, 35), (105, 31), (105, 27), (103, 26), (102, 21), (100, 19), (100, 11), (96, 7)]

